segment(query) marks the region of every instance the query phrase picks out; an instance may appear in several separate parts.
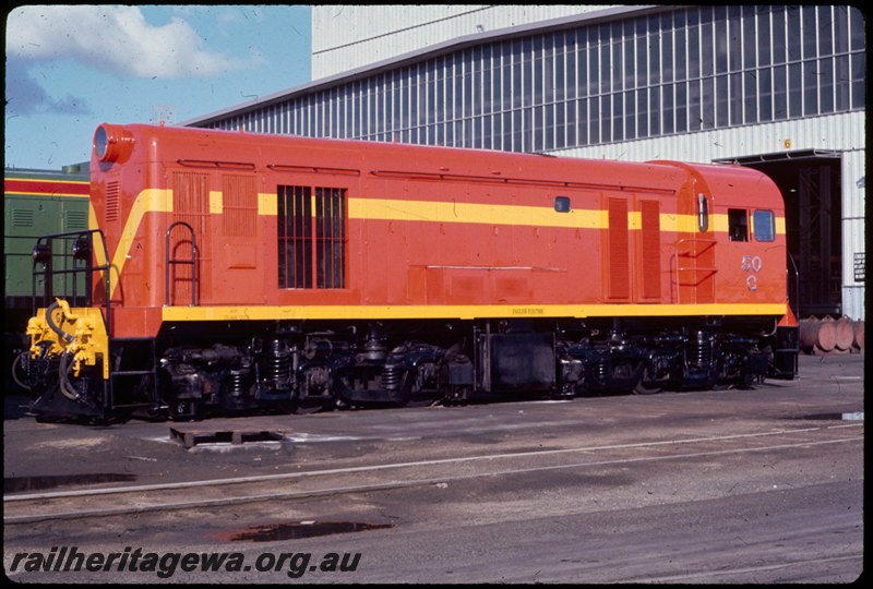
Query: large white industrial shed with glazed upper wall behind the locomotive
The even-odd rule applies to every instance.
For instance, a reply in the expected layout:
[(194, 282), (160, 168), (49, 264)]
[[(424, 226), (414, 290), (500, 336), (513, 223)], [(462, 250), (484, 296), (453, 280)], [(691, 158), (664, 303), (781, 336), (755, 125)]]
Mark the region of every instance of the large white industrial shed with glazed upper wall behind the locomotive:
[(312, 82), (182, 124), (754, 167), (800, 315), (863, 320), (864, 74), (854, 7), (324, 5)]

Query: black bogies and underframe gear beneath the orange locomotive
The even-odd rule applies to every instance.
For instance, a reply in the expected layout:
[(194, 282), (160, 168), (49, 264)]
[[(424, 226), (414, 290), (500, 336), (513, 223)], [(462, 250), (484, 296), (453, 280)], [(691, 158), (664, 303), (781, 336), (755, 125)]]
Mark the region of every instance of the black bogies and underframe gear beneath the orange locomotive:
[(115, 364), (124, 370), (117, 371), (108, 396), (96, 368), (68, 374), (63, 383), (59, 375), (70, 370), (63, 358), (40, 362), (24, 357), (22, 364), (28, 382), (51, 382), (34, 404), (37, 413), (93, 418), (136, 411), (175, 420), (261, 410), (449, 405), (531, 393), (567, 399), (751, 386), (772, 364), (772, 353), (761, 351), (763, 340), (703, 326), (601, 330), (583, 322), (570, 327), (458, 323), (451, 333), (461, 339), (447, 347), (435, 332), (429, 339), (443, 345), (404, 339), (408, 334), (392, 325), (331, 327), (307, 333), (300, 325), (251, 335), (248, 342), (238, 337), (234, 344), (198, 346), (189, 337), (183, 346), (156, 345), (154, 370), (147, 342), (118, 342)]

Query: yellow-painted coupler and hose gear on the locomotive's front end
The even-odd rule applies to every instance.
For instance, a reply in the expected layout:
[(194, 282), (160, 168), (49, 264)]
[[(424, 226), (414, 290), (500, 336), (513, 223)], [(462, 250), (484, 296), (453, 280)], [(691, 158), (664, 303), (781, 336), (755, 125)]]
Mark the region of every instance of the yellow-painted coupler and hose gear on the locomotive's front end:
[[(55, 299), (57, 306), (51, 305), (50, 321), (58, 330), (48, 324), (46, 309), (39, 309), (35, 317), (27, 322), (27, 335), (31, 336), (31, 357), (36, 358), (51, 341), (49, 353), (61, 354), (68, 351), (73, 354), (73, 375), (79, 376), (84, 362), (88, 366), (97, 364), (97, 358), (103, 360), (103, 377), (109, 378), (109, 338), (106, 335), (103, 313), (99, 309), (76, 308), (62, 299)], [(53, 309), (52, 309), (53, 308)]]

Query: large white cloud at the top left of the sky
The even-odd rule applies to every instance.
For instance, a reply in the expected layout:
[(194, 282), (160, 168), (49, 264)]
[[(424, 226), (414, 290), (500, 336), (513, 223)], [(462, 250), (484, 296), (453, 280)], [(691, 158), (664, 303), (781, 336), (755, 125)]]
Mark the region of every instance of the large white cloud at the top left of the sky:
[(7, 20), (7, 58), (75, 59), (140, 77), (207, 77), (246, 67), (203, 48), (179, 17), (148, 24), (136, 7), (26, 5)]

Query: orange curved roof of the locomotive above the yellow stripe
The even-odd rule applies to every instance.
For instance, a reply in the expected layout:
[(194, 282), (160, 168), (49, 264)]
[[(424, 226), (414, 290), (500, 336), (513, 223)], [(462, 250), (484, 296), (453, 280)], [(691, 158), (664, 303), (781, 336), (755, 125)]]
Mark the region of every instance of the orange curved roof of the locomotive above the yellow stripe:
[[(107, 125), (113, 127), (113, 125)], [(433, 180), (525, 181), (548, 184), (621, 187), (677, 191), (692, 179), (721, 201), (730, 194), (737, 204), (764, 206), (761, 183), (775, 184), (751, 168), (723, 164), (685, 164), (654, 160), (631, 163), (584, 159), (491, 149), (410, 145), (362, 140), (312, 139), (295, 135), (250, 133), (183, 127), (123, 125), (136, 144), (153, 145), (157, 157), (175, 160), (239, 164), (251, 169), (311, 168), (355, 173)], [(777, 191), (778, 194), (778, 191)], [(743, 203), (739, 202), (743, 201)], [(777, 206), (766, 204), (766, 206)], [(778, 203), (781, 206), (781, 203)]]

